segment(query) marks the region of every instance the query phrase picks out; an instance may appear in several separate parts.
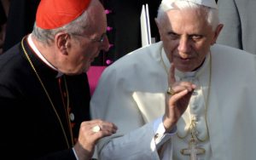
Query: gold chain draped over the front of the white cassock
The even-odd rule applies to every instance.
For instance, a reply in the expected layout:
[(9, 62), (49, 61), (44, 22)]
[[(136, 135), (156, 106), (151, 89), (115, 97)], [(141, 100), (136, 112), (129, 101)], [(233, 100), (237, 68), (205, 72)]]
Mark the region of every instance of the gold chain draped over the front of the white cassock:
[[(167, 75), (169, 74), (169, 71), (167, 70), (167, 66), (163, 60), (163, 57), (162, 57), (162, 53), (160, 52), (160, 58), (161, 58), (161, 61), (164, 65), (164, 68), (166, 70), (166, 73)], [(207, 125), (207, 109), (208, 109), (208, 100), (209, 100), (209, 95), (210, 95), (210, 89), (211, 89), (211, 83), (212, 83), (212, 54), (210, 52), (210, 67), (209, 67), (209, 79), (208, 79), (208, 90), (207, 90), (207, 98), (205, 97), (205, 95), (203, 94), (203, 98), (204, 98), (204, 102), (205, 102), (205, 119), (206, 119), (206, 125)], [(203, 89), (201, 89), (202, 92), (203, 92)], [(195, 137), (197, 138), (197, 140), (201, 141), (201, 142), (204, 142), (206, 140), (208, 140), (209, 138), (209, 129), (208, 129), (208, 125), (207, 125), (207, 136), (201, 140), (198, 136), (197, 136), (197, 130), (196, 132), (194, 132), (196, 130), (196, 124), (195, 124), (195, 119), (191, 118), (191, 123), (189, 125), (189, 131), (191, 132), (191, 134), (195, 135)], [(184, 135), (184, 136), (180, 136), (178, 133), (177, 133), (177, 137), (179, 139), (184, 139), (185, 137), (188, 136), (189, 134), (189, 131)], [(193, 132), (193, 133), (192, 133)], [(194, 134), (195, 133), (195, 134)]]

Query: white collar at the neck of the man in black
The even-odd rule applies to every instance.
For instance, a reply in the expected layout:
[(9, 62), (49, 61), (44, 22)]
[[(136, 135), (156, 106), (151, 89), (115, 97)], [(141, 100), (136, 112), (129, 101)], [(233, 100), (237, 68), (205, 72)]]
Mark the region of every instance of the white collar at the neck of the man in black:
[[(40, 60), (43, 60), (44, 63), (49, 66), (50, 68), (52, 68), (53, 70), (55, 71), (58, 71), (57, 68), (55, 68), (55, 66), (52, 66), (48, 60), (46, 60), (44, 58), (44, 55), (40, 53), (40, 51), (38, 50), (37, 46), (35, 45), (35, 43), (33, 43), (32, 41), (32, 34), (29, 34), (28, 37), (27, 37), (27, 41), (28, 41), (28, 44), (30, 45), (30, 47), (33, 49), (33, 51), (35, 52), (35, 54), (38, 55), (39, 59)], [(58, 71), (58, 74), (56, 77), (61, 77), (63, 75), (63, 73), (61, 71)]]

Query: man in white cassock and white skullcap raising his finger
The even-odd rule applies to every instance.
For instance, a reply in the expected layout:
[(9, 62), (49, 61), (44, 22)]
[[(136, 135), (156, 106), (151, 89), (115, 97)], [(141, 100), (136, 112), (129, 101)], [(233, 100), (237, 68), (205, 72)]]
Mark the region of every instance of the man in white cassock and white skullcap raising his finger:
[(155, 21), (161, 41), (108, 66), (92, 97), (119, 128), (99, 159), (255, 159), (255, 55), (215, 43), (214, 0), (163, 0)]

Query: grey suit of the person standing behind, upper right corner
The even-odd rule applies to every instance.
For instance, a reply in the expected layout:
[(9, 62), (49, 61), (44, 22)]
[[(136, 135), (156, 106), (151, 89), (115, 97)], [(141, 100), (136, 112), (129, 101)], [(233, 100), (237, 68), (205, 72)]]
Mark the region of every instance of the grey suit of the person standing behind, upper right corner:
[(220, 23), (224, 24), (217, 43), (256, 54), (255, 0), (218, 0)]

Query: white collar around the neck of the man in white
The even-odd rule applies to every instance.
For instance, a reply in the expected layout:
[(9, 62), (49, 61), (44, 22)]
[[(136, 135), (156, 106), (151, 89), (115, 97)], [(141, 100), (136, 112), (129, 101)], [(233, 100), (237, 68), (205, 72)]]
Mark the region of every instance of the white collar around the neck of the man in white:
[[(167, 68), (171, 67), (171, 63), (169, 59), (166, 56), (166, 52), (164, 49), (161, 50), (161, 56), (163, 58), (163, 61), (166, 65)], [(207, 64), (209, 63), (209, 54), (206, 56), (206, 60), (203, 62), (201, 67), (199, 67), (196, 71), (188, 71), (188, 72), (183, 72), (183, 71), (178, 71), (175, 69), (175, 76), (178, 78), (184, 78), (184, 77), (198, 77), (201, 75), (201, 72), (207, 68)]]

